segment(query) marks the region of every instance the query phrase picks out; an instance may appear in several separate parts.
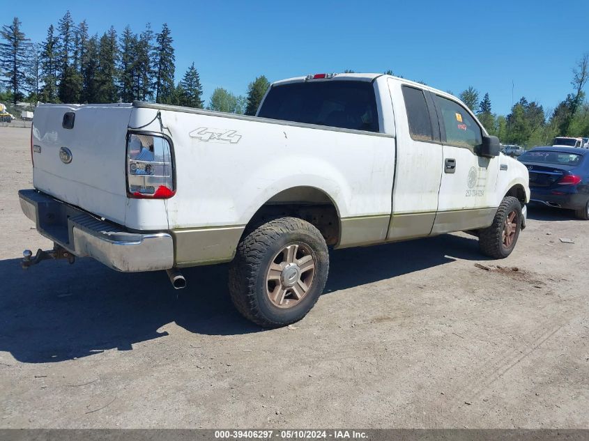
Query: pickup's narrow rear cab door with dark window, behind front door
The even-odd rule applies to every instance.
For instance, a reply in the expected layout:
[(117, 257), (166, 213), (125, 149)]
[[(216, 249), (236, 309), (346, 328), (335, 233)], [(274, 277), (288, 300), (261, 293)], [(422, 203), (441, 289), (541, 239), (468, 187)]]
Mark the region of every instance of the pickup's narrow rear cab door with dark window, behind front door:
[(442, 174), (440, 127), (434, 102), (421, 88), (388, 80), (395, 111), (397, 162), (387, 240), (429, 235)]

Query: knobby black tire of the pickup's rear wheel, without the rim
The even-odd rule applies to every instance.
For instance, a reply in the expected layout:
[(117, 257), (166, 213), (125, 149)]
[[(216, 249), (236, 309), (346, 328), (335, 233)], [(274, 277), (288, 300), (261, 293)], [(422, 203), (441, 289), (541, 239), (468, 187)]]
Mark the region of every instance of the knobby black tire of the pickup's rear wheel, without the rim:
[[(291, 242), (302, 243), (314, 257), (315, 272), (309, 291), (288, 309), (275, 306), (268, 298), (266, 274), (280, 249)], [(312, 224), (296, 217), (279, 217), (246, 233), (239, 242), (229, 268), (229, 293), (236, 309), (263, 327), (281, 327), (303, 318), (323, 292), (329, 272), (325, 239)]]

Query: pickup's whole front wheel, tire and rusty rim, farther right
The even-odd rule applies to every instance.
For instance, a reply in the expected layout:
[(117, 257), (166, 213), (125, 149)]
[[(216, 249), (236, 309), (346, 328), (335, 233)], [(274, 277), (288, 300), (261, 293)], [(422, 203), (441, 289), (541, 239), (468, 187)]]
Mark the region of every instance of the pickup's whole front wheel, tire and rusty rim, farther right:
[(493, 219), (493, 224), (480, 230), (479, 248), (482, 254), (494, 258), (509, 256), (521, 231), (521, 203), (513, 196), (505, 196)]

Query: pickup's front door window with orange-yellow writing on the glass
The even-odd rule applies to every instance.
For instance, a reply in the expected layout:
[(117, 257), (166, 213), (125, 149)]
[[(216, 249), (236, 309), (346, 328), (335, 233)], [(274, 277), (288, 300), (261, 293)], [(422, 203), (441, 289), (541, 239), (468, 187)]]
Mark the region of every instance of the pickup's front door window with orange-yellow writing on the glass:
[(474, 153), (474, 149), (482, 144), (480, 126), (457, 102), (435, 95), (436, 105), (441, 111), (447, 144), (464, 147)]

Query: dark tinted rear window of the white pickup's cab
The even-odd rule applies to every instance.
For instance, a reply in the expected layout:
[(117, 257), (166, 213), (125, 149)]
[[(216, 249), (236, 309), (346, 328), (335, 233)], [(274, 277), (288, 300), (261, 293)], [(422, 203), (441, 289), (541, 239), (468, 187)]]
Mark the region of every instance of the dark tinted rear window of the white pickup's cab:
[(258, 116), (368, 132), (380, 130), (372, 82), (327, 80), (273, 86)]

